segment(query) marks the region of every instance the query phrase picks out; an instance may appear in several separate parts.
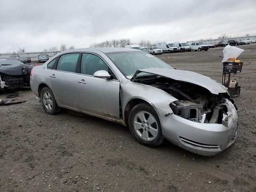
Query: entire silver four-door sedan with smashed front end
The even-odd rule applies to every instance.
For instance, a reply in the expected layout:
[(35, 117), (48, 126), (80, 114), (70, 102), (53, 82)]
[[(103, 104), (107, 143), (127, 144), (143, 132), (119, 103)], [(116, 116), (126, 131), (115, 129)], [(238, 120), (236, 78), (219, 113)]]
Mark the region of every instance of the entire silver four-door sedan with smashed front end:
[(223, 85), (140, 50), (61, 52), (33, 68), (30, 86), (47, 114), (67, 108), (117, 122), (146, 146), (166, 138), (212, 156), (236, 139), (236, 105)]

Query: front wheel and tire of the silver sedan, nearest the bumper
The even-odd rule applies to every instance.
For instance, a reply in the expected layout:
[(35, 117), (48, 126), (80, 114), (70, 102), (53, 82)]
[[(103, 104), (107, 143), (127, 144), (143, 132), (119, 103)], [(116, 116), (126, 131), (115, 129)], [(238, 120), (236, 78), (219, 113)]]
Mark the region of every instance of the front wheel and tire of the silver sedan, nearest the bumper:
[(157, 147), (164, 142), (160, 120), (154, 108), (149, 104), (140, 103), (134, 106), (129, 114), (128, 123), (130, 132), (141, 144)]

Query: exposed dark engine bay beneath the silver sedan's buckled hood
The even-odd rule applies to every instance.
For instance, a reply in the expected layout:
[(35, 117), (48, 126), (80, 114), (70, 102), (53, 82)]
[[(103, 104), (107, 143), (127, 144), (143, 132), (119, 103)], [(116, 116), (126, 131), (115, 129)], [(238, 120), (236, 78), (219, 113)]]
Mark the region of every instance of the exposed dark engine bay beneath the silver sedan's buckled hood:
[(187, 120), (222, 124), (223, 115), (227, 115), (225, 101), (230, 98), (227, 93), (212, 94), (199, 85), (162, 76), (138, 77), (135, 82), (154, 86), (177, 98), (170, 103), (170, 108), (174, 114)]

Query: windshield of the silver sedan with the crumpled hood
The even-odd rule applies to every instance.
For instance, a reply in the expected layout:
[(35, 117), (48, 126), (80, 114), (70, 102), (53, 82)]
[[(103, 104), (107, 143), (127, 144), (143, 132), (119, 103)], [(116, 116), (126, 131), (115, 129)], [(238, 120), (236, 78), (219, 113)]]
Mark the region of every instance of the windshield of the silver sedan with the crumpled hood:
[(166, 68), (171, 66), (151, 54), (140, 51), (105, 53), (124, 76), (131, 76), (139, 69)]

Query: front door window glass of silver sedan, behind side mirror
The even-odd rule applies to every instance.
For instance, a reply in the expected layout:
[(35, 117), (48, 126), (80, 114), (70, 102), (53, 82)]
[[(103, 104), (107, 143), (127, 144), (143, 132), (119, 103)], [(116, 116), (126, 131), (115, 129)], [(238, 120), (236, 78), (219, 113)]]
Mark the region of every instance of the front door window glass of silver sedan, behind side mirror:
[(109, 72), (108, 65), (98, 56), (89, 53), (83, 53), (81, 61), (81, 74), (92, 75), (99, 70)]

